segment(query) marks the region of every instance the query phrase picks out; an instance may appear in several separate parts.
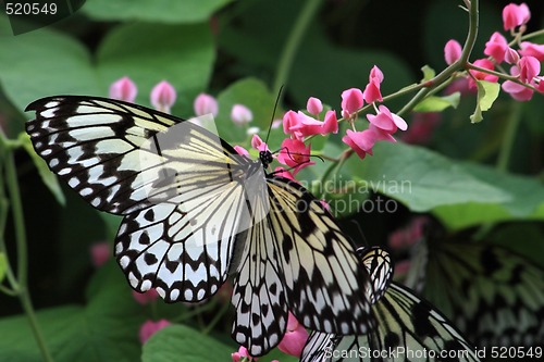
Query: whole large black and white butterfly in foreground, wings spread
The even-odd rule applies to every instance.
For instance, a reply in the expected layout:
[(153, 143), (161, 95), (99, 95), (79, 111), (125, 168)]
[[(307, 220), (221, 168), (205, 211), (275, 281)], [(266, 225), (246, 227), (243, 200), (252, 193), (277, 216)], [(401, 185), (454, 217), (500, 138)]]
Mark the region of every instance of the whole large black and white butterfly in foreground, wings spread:
[(98, 210), (124, 216), (114, 252), (137, 291), (197, 302), (234, 275), (232, 336), (254, 357), (290, 310), (306, 327), (367, 333), (370, 288), (355, 248), (299, 184), (267, 173), (212, 132), (140, 105), (62, 96), (26, 123), (50, 170)]

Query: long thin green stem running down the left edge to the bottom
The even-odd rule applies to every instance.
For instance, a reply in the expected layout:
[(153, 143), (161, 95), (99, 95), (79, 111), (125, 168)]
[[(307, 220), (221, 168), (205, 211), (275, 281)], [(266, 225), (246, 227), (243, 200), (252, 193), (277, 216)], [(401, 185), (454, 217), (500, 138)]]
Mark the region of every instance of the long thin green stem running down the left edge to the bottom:
[[(26, 230), (23, 203), (21, 202), (21, 194), (18, 190), (15, 161), (13, 160), (13, 151), (8, 147), (7, 138), (4, 138), (4, 135), (0, 135), (0, 154), (5, 166), (5, 168), (3, 170), (5, 175), (5, 188), (8, 189), (8, 194), (11, 200), (11, 210), (13, 213), (13, 222), (15, 226), (15, 242), (17, 248), (17, 275), (16, 280), (12, 280), (12, 283), (15, 283), (14, 285), (12, 285), (12, 288), (18, 297), (21, 307), (23, 308), (28, 319), (30, 329), (34, 334), (34, 338), (36, 339), (44, 361), (52, 362), (53, 359), (51, 358), (51, 354), (49, 353), (47, 345), (44, 340), (44, 336), (38, 325), (38, 320), (36, 317), (36, 313), (34, 311), (34, 307), (32, 304), (27, 288), (28, 261), (26, 258)], [(8, 271), (10, 272), (11, 269), (9, 269)], [(8, 273), (8, 276), (10, 276), (10, 273)]]

